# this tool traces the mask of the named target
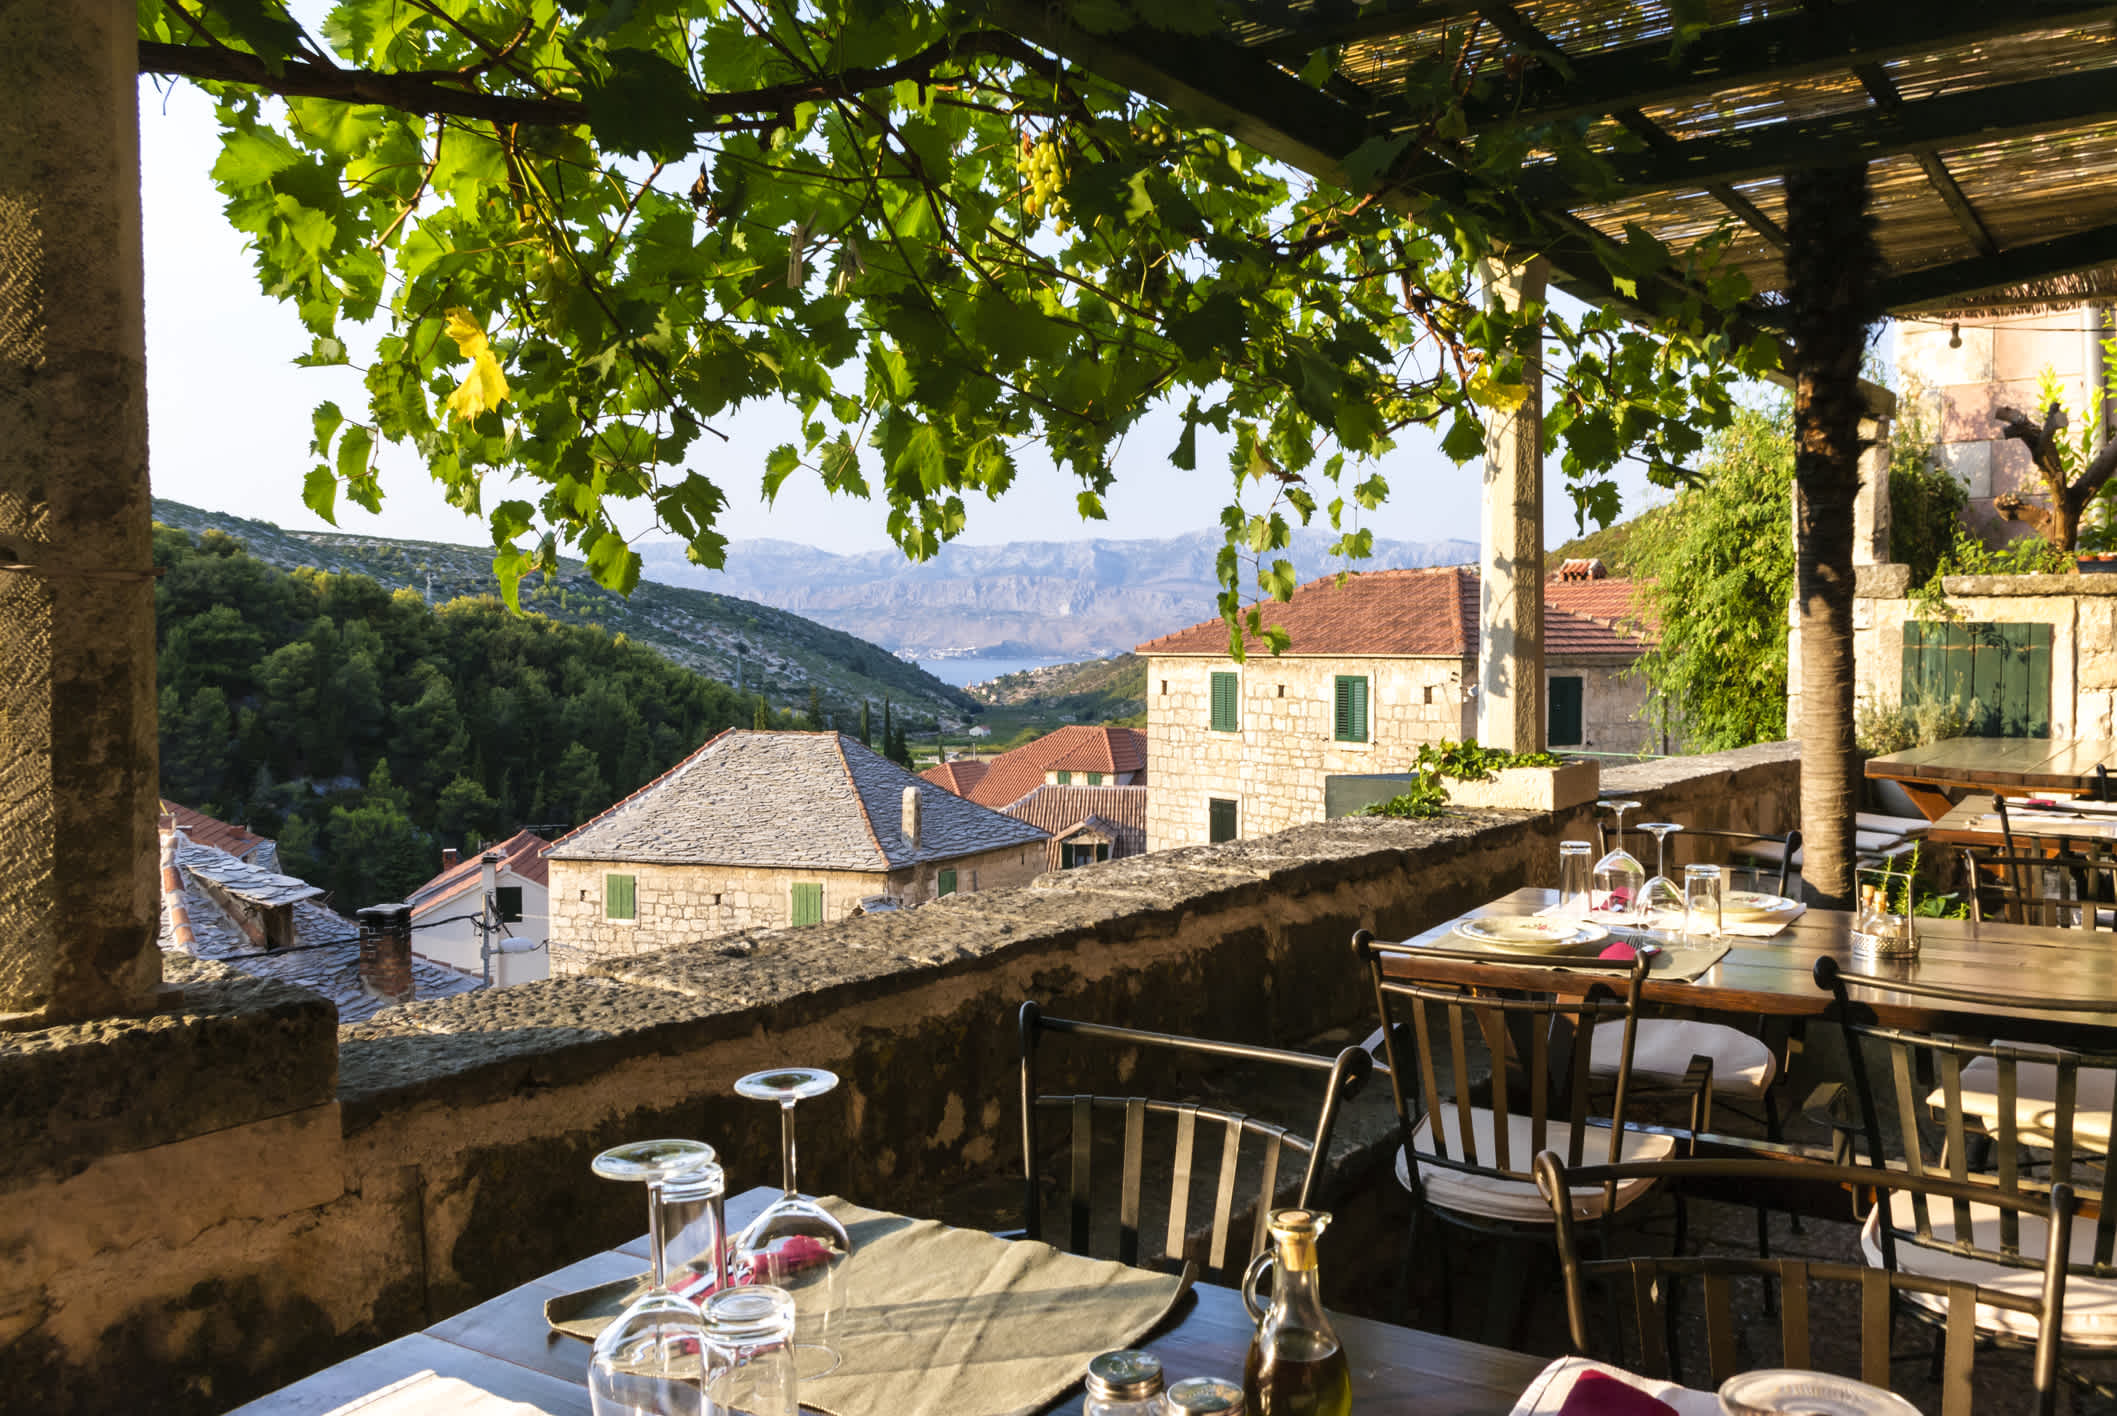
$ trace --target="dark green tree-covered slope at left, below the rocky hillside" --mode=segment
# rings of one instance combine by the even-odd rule
[[[760,713],[811,726],[493,597],[434,607],[167,525],[155,563],[163,796],[275,836],[341,908],[402,897],[442,845],[584,821]]]

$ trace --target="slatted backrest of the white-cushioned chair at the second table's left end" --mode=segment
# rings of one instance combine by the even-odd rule
[[[1382,944],[1361,929],[1353,948],[1374,984],[1374,1007],[1382,1022],[1389,1092],[1406,1147],[1412,1194],[1425,1202],[1421,1166],[1440,1166],[1486,1179],[1535,1183],[1531,1166],[1554,1134],[1562,1134],[1567,1160],[1581,1164],[1590,1143],[1603,1160],[1617,1160],[1624,1147],[1624,1115],[1632,1084],[1632,1039],[1639,1024],[1639,993],[1649,959],[1605,963],[1569,959],[1569,969],[1600,974],[1581,988],[1581,974],[1539,969],[1531,978],[1499,984],[1463,984],[1431,974],[1435,963],[1492,965],[1492,955]],[[1509,959],[1509,965],[1516,961]],[[1450,969],[1452,972],[1452,969]],[[1609,1126],[1590,1126],[1592,1054],[1598,1027],[1622,1029],[1615,1092]],[[1471,1088],[1471,1039],[1492,1060],[1490,1094]],[[1507,1088],[1507,1058],[1522,1063],[1528,1088],[1528,1143],[1509,1132],[1514,1099]],[[1478,1111],[1490,1113],[1488,1143],[1478,1137]],[[1412,1145],[1421,1120],[1427,1124],[1416,1164]],[[1564,1126],[1564,1132],[1554,1132]],[[1611,1204],[1615,1209],[1615,1204]]]

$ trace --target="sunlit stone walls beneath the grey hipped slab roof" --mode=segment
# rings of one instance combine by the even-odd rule
[[[824,887],[826,925],[849,919],[868,895],[923,904],[940,895],[942,870],[955,870],[959,891],[1027,885],[1044,870],[1044,842],[887,874],[553,859],[553,974],[580,974],[597,959],[694,944],[737,929],[781,929],[794,919],[794,885]],[[603,878],[610,874],[633,876],[633,919],[605,916]]]

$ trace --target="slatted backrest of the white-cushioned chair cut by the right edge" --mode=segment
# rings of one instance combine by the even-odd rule
[[[1914,1179],[1975,1181],[1979,1196],[2043,1202],[2070,1185],[2083,1156],[2106,1158],[2117,1134],[2117,1054],[2075,1052],[2045,1043],[1977,1041],[1880,1027],[1848,988],[1886,988],[1937,1001],[1990,1007],[2032,1007],[1990,993],[1969,993],[1916,980],[1854,974],[1835,959],[1816,961],[1816,984],[1831,993],[1831,1014],[1844,1033],[1867,1164]],[[2062,1012],[2117,1012],[2117,1003],[2064,1003]],[[2060,1007],[2053,1007],[2060,1012]],[[1994,1020],[1994,1027],[2005,1027]],[[1874,1071],[1886,1073],[1876,1096]],[[1895,1139],[1895,1143],[1890,1143]],[[2100,1213],[2092,1264],[2075,1272],[2117,1276],[2117,1166],[2102,1164]],[[2037,1170],[2045,1170],[2039,1177]],[[1895,1268],[1895,1247],[1912,1242],[1992,1264],[2034,1264],[2022,1251],[2013,1215],[1979,1228],[1967,1202],[1935,1226],[1924,1194],[1912,1192],[1912,1223],[1880,1223],[1882,1251]],[[1990,1236],[1990,1242],[1986,1242]]]

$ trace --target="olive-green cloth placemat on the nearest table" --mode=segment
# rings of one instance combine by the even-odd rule
[[[1097,1353],[1154,1331],[1192,1274],[1084,1259],[1033,1240],[951,1230],[838,1198],[824,1206],[853,1238],[834,1274],[845,1306],[826,1340],[838,1369],[804,1378],[800,1403],[830,1416],[1012,1416],[1073,1386]],[[593,1340],[646,1289],[646,1274],[544,1304],[563,1333]],[[802,1319],[828,1306],[796,1291]]]

